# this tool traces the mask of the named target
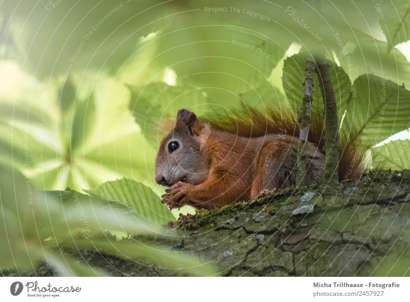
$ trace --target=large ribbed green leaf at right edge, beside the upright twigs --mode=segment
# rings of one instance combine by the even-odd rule
[[[373,74],[354,82],[340,131],[375,145],[410,127],[410,91]]]

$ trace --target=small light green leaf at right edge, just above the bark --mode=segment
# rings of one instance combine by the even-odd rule
[[[373,165],[382,169],[410,169],[410,140],[395,140],[375,147]]]

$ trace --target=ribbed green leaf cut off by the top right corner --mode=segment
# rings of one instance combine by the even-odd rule
[[[387,51],[410,39],[410,2],[408,0],[383,1],[378,8],[380,26],[386,36]]]

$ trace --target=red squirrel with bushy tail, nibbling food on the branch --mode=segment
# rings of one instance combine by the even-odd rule
[[[180,109],[156,157],[155,181],[169,187],[161,202],[170,210],[185,204],[210,210],[295,184],[298,131],[291,112],[246,108],[233,117],[199,119]],[[306,173],[312,182],[325,160],[323,121],[312,120],[308,140]],[[348,175],[355,177],[363,171],[365,150],[348,139],[341,146],[339,179],[346,176],[347,163]]]

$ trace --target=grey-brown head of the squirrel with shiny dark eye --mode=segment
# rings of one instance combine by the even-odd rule
[[[174,128],[162,140],[155,161],[155,181],[172,186],[178,181],[199,184],[208,178],[201,155],[201,125],[187,109],[178,111]]]

